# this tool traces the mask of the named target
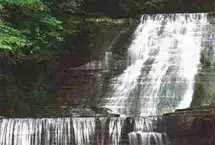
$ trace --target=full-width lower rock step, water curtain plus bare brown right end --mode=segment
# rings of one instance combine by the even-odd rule
[[[5,118],[0,145],[214,145],[215,107],[162,117]]]

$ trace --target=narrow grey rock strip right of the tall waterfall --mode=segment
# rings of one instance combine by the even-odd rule
[[[193,101],[191,106],[203,106],[214,102],[215,92],[215,49],[214,49],[214,36],[215,36],[215,25],[214,25],[214,13],[208,15],[209,25],[205,27],[202,39],[201,49],[201,65],[197,75],[195,76],[195,86]]]

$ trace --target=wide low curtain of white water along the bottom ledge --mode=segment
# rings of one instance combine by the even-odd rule
[[[130,132],[162,130],[157,117],[11,118],[0,122],[0,145],[128,145]],[[161,140],[152,136],[155,143]],[[151,135],[145,137],[151,140]]]

